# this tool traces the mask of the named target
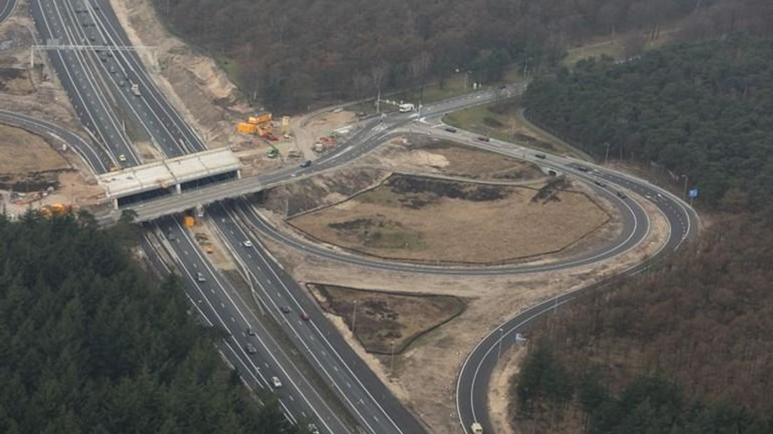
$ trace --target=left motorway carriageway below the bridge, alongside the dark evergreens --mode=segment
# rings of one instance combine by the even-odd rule
[[[190,232],[177,219],[160,219],[148,224],[148,229],[143,243],[148,247],[146,253],[155,256],[160,248],[172,253],[192,304],[208,324],[226,332],[221,343],[223,355],[248,387],[278,395],[292,422],[305,419],[323,432],[352,432],[308,381],[308,373],[292,360],[290,354],[294,349],[272,336],[264,324],[267,319],[258,317],[248,307],[230,281],[209,263]],[[275,310],[264,308],[264,312],[271,317],[269,320],[281,320]],[[248,344],[254,347],[254,352],[247,349]],[[280,379],[281,387],[272,385],[272,377]]]

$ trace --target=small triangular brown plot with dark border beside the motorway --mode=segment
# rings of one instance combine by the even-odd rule
[[[322,308],[342,317],[369,353],[400,354],[421,334],[455,317],[465,308],[458,297],[397,294],[333,285],[306,285]],[[356,318],[354,309],[357,307]]]

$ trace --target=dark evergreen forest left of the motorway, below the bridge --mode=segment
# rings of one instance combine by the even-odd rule
[[[295,432],[186,310],[83,215],[0,217],[0,432]]]

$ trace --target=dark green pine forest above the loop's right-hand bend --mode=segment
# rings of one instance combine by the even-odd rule
[[[737,211],[773,198],[773,39],[730,35],[624,64],[585,60],[536,80],[524,101],[533,120],[598,160],[662,164],[688,176],[702,201]]]

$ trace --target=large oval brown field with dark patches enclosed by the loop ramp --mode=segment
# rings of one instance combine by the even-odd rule
[[[314,239],[386,259],[503,263],[558,253],[610,219],[561,178],[515,186],[393,175],[288,222]]]

